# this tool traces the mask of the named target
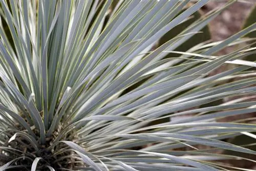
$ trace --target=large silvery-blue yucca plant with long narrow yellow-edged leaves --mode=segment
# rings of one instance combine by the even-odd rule
[[[154,48],[207,2],[1,0],[0,170],[245,170],[222,160],[255,162],[217,153],[256,154],[223,141],[255,138],[255,124],[218,122],[256,112],[255,101],[199,106],[255,94],[255,63],[241,60],[256,52],[253,39],[240,37],[256,24],[175,51],[231,1]],[[180,56],[165,58],[172,53]],[[208,76],[224,63],[239,66]],[[240,79],[222,84],[231,78]],[[170,120],[154,122],[162,118]]]

